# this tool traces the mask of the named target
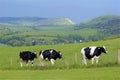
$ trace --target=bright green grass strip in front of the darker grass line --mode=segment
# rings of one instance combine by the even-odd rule
[[[0,71],[0,80],[120,80],[120,67]]]

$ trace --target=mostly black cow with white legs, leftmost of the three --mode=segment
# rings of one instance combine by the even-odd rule
[[[31,64],[33,66],[34,58],[37,58],[36,52],[30,52],[30,51],[20,52],[19,56],[20,56],[21,67],[23,66],[23,64],[22,64],[23,61],[25,61],[27,65],[29,62],[31,62]]]

